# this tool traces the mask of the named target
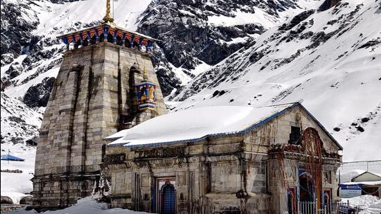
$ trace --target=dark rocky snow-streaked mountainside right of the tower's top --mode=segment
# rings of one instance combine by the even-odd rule
[[[200,66],[202,69],[205,63],[220,62],[268,28],[317,2],[152,1],[141,15],[138,30],[163,41],[159,46],[166,57],[159,59],[157,73],[159,79],[166,77],[160,83],[164,95],[168,95],[197,75]],[[179,80],[174,82],[174,77]]]

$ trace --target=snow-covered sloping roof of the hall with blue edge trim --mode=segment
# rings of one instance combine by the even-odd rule
[[[296,105],[301,104],[293,102],[266,107],[211,106],[186,109],[152,118],[105,139],[115,140],[109,146],[123,145],[128,148],[180,141],[195,142],[208,136],[244,134]]]

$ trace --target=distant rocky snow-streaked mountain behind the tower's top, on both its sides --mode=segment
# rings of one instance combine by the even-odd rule
[[[114,17],[119,26],[138,30],[141,33],[159,37],[165,41],[163,44],[160,44],[164,52],[161,51],[161,48],[156,48],[157,50],[155,50],[157,54],[154,56],[154,64],[157,68],[161,85],[163,85],[163,91],[165,94],[169,94],[172,89],[179,87],[181,82],[183,84],[188,82],[195,74],[204,70],[205,66],[201,66],[197,69],[198,71],[190,71],[190,69],[194,69],[194,66],[185,66],[184,60],[181,61],[180,58],[182,58],[183,54],[190,54],[186,60],[188,64],[194,64],[195,66],[197,64],[204,65],[202,61],[197,60],[197,57],[193,59],[193,55],[196,55],[196,53],[193,53],[195,51],[191,51],[191,49],[197,49],[198,52],[200,50],[209,50],[212,43],[213,50],[218,51],[222,48],[224,53],[220,53],[218,59],[206,60],[209,64],[215,64],[251,40],[254,37],[253,33],[256,35],[263,33],[268,26],[273,26],[278,21],[283,21],[286,17],[305,10],[305,8],[309,8],[317,2],[314,0],[290,0],[263,4],[248,1],[247,3],[237,4],[225,1],[208,3],[207,5],[209,6],[206,7],[208,8],[206,12],[201,10],[204,7],[201,1],[197,5],[194,5],[187,1],[177,2],[167,0],[151,2],[151,0],[144,0],[138,2],[123,0],[116,1],[113,8]],[[18,52],[12,51],[11,48],[1,49],[1,80],[6,83],[6,86],[10,86],[8,91],[13,91],[14,89],[19,91],[14,96],[13,94],[8,95],[13,97],[23,96],[22,93],[26,93],[26,90],[32,85],[42,82],[46,77],[55,77],[57,72],[55,69],[59,67],[62,60],[62,52],[64,51],[63,44],[55,37],[69,31],[94,26],[103,17],[105,4],[103,0],[58,2],[52,3],[48,0],[2,0],[1,11],[3,15],[6,15],[3,17],[6,18],[1,19],[1,28],[6,30],[6,32],[16,33],[15,36],[8,36],[6,39],[2,38],[2,41],[7,41],[5,44],[25,41],[22,44],[17,43],[18,46],[15,49]],[[255,4],[256,8],[248,9],[251,6],[248,4]],[[148,7],[148,5],[150,6]],[[172,6],[174,8],[171,8]],[[219,9],[221,6],[224,6],[224,10]],[[167,13],[167,10],[175,12]],[[195,12],[194,10],[197,10],[197,16],[186,17]],[[232,12],[229,12],[230,10]],[[158,14],[155,11],[160,11],[161,13]],[[257,15],[254,15],[254,13],[257,13]],[[215,27],[215,17],[221,15],[227,15],[230,21],[237,21],[233,21],[233,24],[229,24],[227,28],[218,26],[218,24]],[[251,21],[246,20],[245,23],[242,23],[242,15],[243,17],[251,15],[251,19],[249,19]],[[14,16],[22,20],[20,21],[21,24],[24,22],[28,23],[28,28],[24,26],[19,26],[19,28],[11,27],[17,26],[17,23],[12,22],[14,20],[12,17]],[[28,19],[24,17],[28,17]],[[166,21],[168,17],[172,17],[174,21]],[[163,22],[164,20],[165,22]],[[197,40],[197,38],[193,38],[195,37],[195,30],[190,27],[190,24],[184,24],[184,21],[187,23],[191,22],[193,28],[202,30],[202,35],[198,39],[203,42],[190,42],[190,40]],[[222,28],[223,30],[221,30]],[[24,31],[28,33],[27,36],[22,35]],[[170,33],[168,34],[167,31]],[[188,32],[192,37],[189,41],[185,41],[188,42],[188,49],[185,51],[183,40],[189,36],[184,37],[184,32]],[[224,42],[220,38],[228,42]],[[218,44],[214,44],[214,42]],[[175,45],[180,43],[182,46]],[[202,55],[205,58],[211,57],[214,54],[203,53]],[[200,58],[201,60],[204,59]],[[12,62],[12,60],[15,61]],[[177,60],[181,62],[177,63]],[[43,76],[44,78],[42,78]],[[36,80],[30,82],[32,79]],[[30,84],[19,87],[26,82],[30,82]]]

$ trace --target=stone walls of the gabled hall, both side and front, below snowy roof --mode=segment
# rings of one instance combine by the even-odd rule
[[[274,150],[273,145],[278,142],[290,145],[291,127],[299,121],[301,130],[313,125],[319,136],[323,136],[324,148],[337,154],[337,145],[331,145],[332,140],[308,117],[303,114],[303,109],[294,107],[247,134],[218,135],[199,142],[157,147],[107,147],[110,157],[125,157],[123,163],[103,164],[112,182],[116,182],[113,184],[115,189],[121,185],[117,173],[130,173],[132,180],[133,177],[139,177],[139,180],[127,182],[132,182],[131,186],[140,186],[139,198],[146,199],[136,204],[138,196],[134,194],[138,192],[131,189],[130,198],[112,193],[112,206],[129,202],[128,208],[153,211],[155,180],[173,177],[177,182],[177,193],[182,193],[182,197],[177,195],[178,213],[283,213],[287,211],[287,190],[295,188],[295,193],[299,194],[299,169],[308,169],[311,159],[308,155],[305,157],[300,145],[294,145],[300,149],[296,151]],[[287,130],[287,135],[282,130]],[[319,177],[321,188],[330,188],[334,201],[337,199],[335,172],[339,161],[339,156],[323,157]],[[122,166],[126,168],[118,168]],[[116,169],[120,171],[116,172]]]

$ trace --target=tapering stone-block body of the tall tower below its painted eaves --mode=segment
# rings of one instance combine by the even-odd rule
[[[134,85],[144,67],[157,86],[157,105],[139,112]],[[65,52],[40,129],[33,206],[62,208],[90,195],[103,138],[165,113],[150,54],[107,42]]]

